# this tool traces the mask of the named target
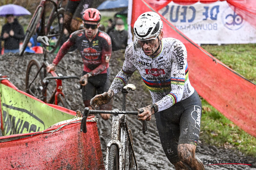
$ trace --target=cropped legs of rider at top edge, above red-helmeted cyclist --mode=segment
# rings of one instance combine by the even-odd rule
[[[81,15],[91,7],[92,3],[92,0],[68,0],[63,22],[70,34],[80,29],[83,21]]]

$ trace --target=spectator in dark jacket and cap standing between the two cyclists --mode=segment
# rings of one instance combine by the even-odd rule
[[[128,32],[125,30],[124,21],[122,19],[116,20],[115,28],[110,31],[109,36],[111,37],[113,51],[126,48]]]

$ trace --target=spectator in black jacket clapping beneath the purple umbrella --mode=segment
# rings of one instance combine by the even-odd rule
[[[3,25],[1,39],[4,41],[4,53],[19,52],[19,42],[24,39],[24,29],[13,15],[6,15],[7,23]]]

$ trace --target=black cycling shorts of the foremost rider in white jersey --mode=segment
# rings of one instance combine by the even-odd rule
[[[202,113],[201,100],[195,92],[185,100],[155,114],[163,150],[171,163],[179,162],[178,145],[197,145]]]

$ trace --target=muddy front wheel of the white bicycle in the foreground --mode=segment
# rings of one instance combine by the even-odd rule
[[[108,170],[118,170],[119,169],[119,156],[117,152],[117,147],[115,145],[110,146],[109,150],[109,161]]]

